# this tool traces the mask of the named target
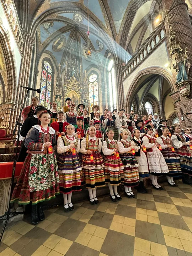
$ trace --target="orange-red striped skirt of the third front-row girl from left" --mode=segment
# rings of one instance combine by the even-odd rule
[[[82,172],[86,188],[96,188],[105,186],[105,173],[103,158],[98,151],[93,151],[93,161],[91,155],[82,155]]]

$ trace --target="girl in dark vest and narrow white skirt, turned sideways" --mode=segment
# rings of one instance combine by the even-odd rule
[[[135,152],[135,158],[139,164],[138,170],[139,170],[139,186],[136,188],[138,192],[140,193],[146,193],[148,192],[146,188],[144,187],[143,179],[146,177],[149,177],[149,169],[148,169],[148,163],[146,155],[143,151],[143,148],[145,147],[143,145],[143,141],[139,138],[140,137],[140,131],[138,129],[133,130],[133,142],[135,143],[135,146],[138,147],[138,151]]]

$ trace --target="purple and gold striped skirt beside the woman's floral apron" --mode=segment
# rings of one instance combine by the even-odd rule
[[[73,191],[81,191],[82,169],[78,154],[65,152],[59,156],[57,163],[60,192],[69,194]]]

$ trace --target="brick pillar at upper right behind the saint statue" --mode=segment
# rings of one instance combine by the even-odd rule
[[[178,39],[180,40],[181,48],[183,48],[184,53],[185,48],[187,47],[189,61],[190,63],[192,63],[192,26],[190,22],[190,17],[187,12],[187,4],[185,3],[185,0],[162,0],[162,2],[164,4],[164,10],[165,12],[167,11],[167,15],[169,17],[168,21],[168,17],[166,15],[164,22],[167,39],[169,41],[169,22],[172,25],[172,28],[175,31]],[[172,62],[174,63],[174,59],[172,59]],[[188,79],[192,81],[192,68],[190,69]],[[175,89],[175,91],[177,92],[178,98],[180,99],[180,101],[177,101],[176,105],[178,109],[178,116],[180,118],[181,127],[192,127],[192,114],[186,115],[186,112],[192,110],[192,98],[184,98],[180,95],[177,89]],[[174,98],[174,95],[172,96],[172,98]],[[181,120],[181,113],[179,113],[179,109],[181,109],[183,112],[185,122]]]

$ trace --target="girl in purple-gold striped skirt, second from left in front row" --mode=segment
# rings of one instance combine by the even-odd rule
[[[74,126],[68,124],[66,135],[58,137],[57,152],[60,192],[63,194],[64,210],[74,210],[72,192],[81,191],[82,169],[79,161],[80,140],[74,137]]]

